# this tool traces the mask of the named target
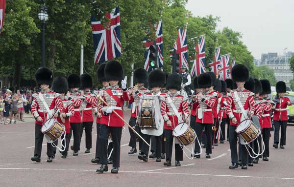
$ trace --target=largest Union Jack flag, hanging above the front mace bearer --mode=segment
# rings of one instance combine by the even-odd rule
[[[101,24],[101,20],[91,16],[95,64],[120,57],[122,54],[120,8],[114,8],[113,12],[105,14],[105,17],[109,19],[106,28]]]

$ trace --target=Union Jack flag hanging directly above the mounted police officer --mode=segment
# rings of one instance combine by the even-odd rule
[[[176,50],[176,53],[179,54],[179,68],[181,65],[184,64],[189,70],[188,65],[188,47],[187,47],[187,30],[186,29],[179,29],[178,30],[178,37],[176,42],[173,44],[173,48]]]

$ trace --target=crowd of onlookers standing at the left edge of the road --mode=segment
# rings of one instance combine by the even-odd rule
[[[23,87],[11,91],[2,87],[0,90],[0,124],[16,124],[16,121],[25,121],[24,113],[31,112],[32,94],[36,88]]]

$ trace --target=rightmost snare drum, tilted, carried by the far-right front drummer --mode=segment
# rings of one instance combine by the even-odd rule
[[[247,143],[254,141],[260,134],[260,131],[251,120],[244,120],[235,130]]]

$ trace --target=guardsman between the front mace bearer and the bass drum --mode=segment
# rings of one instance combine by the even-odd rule
[[[129,104],[132,104],[131,118],[129,120],[129,125],[131,125],[132,127],[136,125],[136,120],[137,120],[138,112],[139,112],[139,103],[140,103],[140,98],[135,92],[138,91],[141,94],[145,94],[149,92],[149,90],[144,87],[144,84],[147,83],[147,81],[148,81],[148,73],[145,69],[138,68],[134,71],[134,83],[136,83],[136,85],[128,89],[128,91],[130,92]],[[128,154],[134,154],[137,152],[137,145],[136,145],[137,136],[135,135],[133,130],[130,128],[129,128],[129,133],[130,133],[129,146],[132,147],[132,149],[128,152]],[[139,133],[142,134],[141,132]],[[143,144],[143,141],[139,139],[139,150],[141,150],[142,144]]]

